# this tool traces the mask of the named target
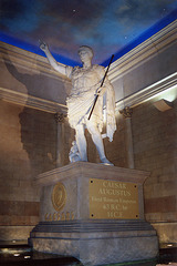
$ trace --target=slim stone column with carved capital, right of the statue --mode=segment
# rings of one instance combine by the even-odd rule
[[[131,122],[133,110],[127,106],[121,110],[119,113],[124,115],[126,121],[126,147],[127,147],[128,167],[134,168],[134,150],[133,150],[132,122]]]

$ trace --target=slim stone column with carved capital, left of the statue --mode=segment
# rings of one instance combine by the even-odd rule
[[[56,167],[63,166],[64,160],[64,117],[63,113],[55,113],[58,123],[58,141],[56,141]]]

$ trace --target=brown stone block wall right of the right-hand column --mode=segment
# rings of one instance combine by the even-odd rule
[[[177,100],[173,109],[158,111],[148,101],[133,109],[135,167],[150,171],[144,185],[145,216],[160,242],[177,242]]]

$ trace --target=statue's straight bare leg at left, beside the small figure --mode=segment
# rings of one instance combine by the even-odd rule
[[[76,145],[80,152],[81,161],[87,161],[87,154],[86,154],[86,139],[84,134],[84,125],[77,124],[75,126],[75,140]]]

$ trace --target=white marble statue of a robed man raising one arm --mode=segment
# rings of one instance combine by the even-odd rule
[[[104,68],[92,64],[93,50],[86,45],[79,49],[79,55],[83,63],[82,68],[58,64],[46,43],[41,42],[40,48],[44,51],[53,69],[66,75],[72,81],[72,90],[66,100],[66,104],[69,123],[71,127],[75,130],[76,143],[74,143],[74,145],[77,147],[77,154],[76,157],[73,158],[73,153],[71,151],[69,155],[70,161],[87,161],[86,140],[84,134],[85,129],[87,129],[97,149],[101,162],[103,164],[113,165],[105,156],[101,135],[103,129],[103,102],[106,105],[106,136],[108,136],[110,141],[113,140],[113,134],[116,130],[114,89],[107,78],[104,81],[102,90],[100,89],[105,74]],[[88,120],[91,109],[97,94],[97,102]]]

